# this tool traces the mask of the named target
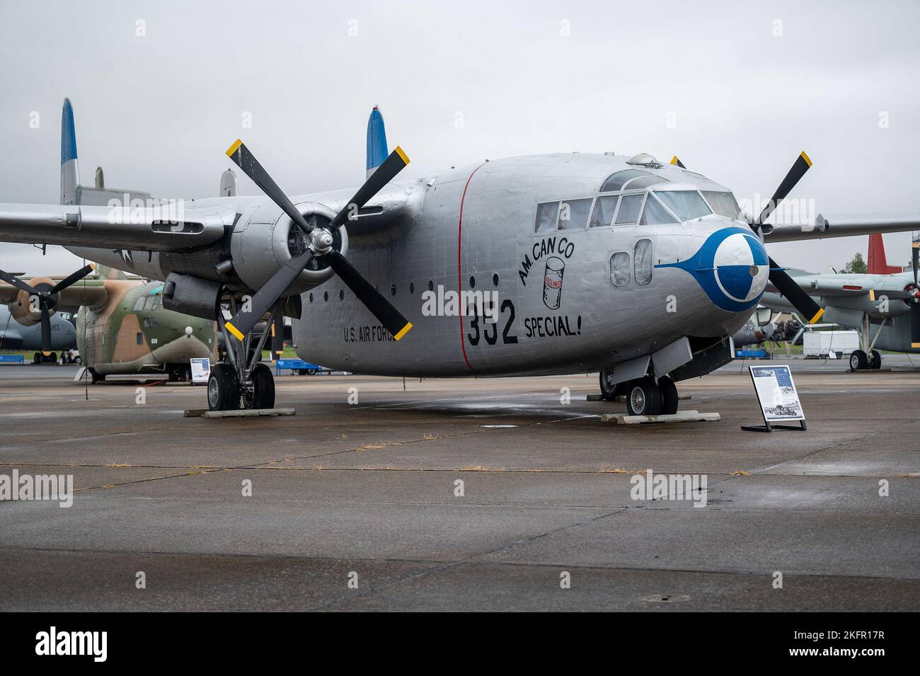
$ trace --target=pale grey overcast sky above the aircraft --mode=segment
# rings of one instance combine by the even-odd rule
[[[237,136],[288,193],[356,186],[377,103],[406,178],[487,157],[676,153],[752,200],[804,149],[814,166],[793,195],[818,212],[917,212],[918,19],[914,0],[0,0],[0,201],[58,201],[70,97],[82,182],[101,165],[109,186],[158,197],[215,196]],[[240,176],[240,192],[259,189]],[[889,262],[909,243],[885,235]],[[7,270],[80,265],[0,247]],[[866,249],[770,246],[816,271]]]

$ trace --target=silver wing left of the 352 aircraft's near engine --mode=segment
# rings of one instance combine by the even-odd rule
[[[233,209],[195,207],[183,202],[127,209],[0,204],[0,241],[181,251],[213,244],[235,219]]]

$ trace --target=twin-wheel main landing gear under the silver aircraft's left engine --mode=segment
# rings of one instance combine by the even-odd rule
[[[231,315],[236,301],[229,302]],[[231,336],[224,327],[223,304],[217,313],[217,326],[224,334],[226,361],[215,364],[208,378],[208,408],[212,411],[235,411],[240,408],[273,408],[275,380],[268,365],[260,362],[262,348],[271,333],[278,306],[271,311],[261,332],[253,329],[242,340]]]

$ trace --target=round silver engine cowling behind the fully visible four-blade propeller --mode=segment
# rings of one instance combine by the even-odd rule
[[[322,227],[335,217],[335,212],[323,204],[301,202],[295,205],[307,223]],[[344,227],[333,234],[333,248],[343,256],[348,254],[348,233]],[[293,220],[274,204],[267,202],[246,217],[240,218],[230,240],[233,268],[253,291],[261,289],[271,276],[291,258],[305,251],[306,235]],[[303,293],[327,281],[333,275],[328,263],[311,260],[291,286],[294,293]]]

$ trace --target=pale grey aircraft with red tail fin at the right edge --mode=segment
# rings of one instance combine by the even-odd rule
[[[881,242],[869,246],[870,260],[880,257],[879,265],[890,268]],[[850,353],[851,371],[880,368],[879,349],[920,353],[920,242],[914,241],[911,250],[912,269],[907,272],[815,275],[797,271],[792,277],[802,291],[821,300],[826,321],[859,332],[861,348]],[[793,309],[775,289],[768,288],[761,303],[774,310]]]

